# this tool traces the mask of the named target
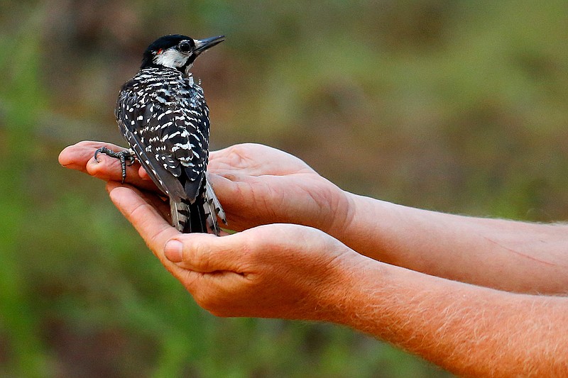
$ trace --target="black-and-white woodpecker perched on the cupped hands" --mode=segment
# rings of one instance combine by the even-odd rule
[[[194,39],[170,34],[155,40],[143,53],[138,72],[119,92],[114,111],[129,149],[101,153],[126,165],[138,160],[148,176],[169,197],[172,226],[182,233],[219,236],[217,217],[226,216],[207,180],[209,108],[201,82],[190,72],[202,52],[224,41],[224,35]]]

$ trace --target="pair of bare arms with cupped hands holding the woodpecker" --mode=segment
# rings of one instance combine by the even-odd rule
[[[92,158],[102,145],[70,146],[60,162],[107,181],[160,262],[218,316],[340,323],[466,376],[568,373],[567,226],[356,196],[292,155],[247,144],[209,162],[241,232],[180,234],[143,169],[129,167],[132,186],[121,185],[116,160]]]

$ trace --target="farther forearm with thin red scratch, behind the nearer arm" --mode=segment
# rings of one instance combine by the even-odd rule
[[[336,238],[375,260],[527,293],[568,292],[568,226],[456,216],[349,194]]]

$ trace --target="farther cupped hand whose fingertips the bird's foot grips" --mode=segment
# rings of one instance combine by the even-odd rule
[[[116,145],[84,141],[60,153],[61,165],[105,181],[120,181],[119,160],[99,155],[100,147]],[[126,167],[126,183],[161,194],[136,162]],[[349,196],[324,179],[305,162],[265,145],[241,144],[212,151],[208,178],[219,197],[231,230],[245,230],[268,223],[296,223],[341,235],[349,221]]]

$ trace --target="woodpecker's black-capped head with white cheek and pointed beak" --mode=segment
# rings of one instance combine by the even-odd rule
[[[224,40],[224,35],[202,40],[180,34],[164,35],[148,46],[140,68],[169,67],[187,74],[198,55]]]

